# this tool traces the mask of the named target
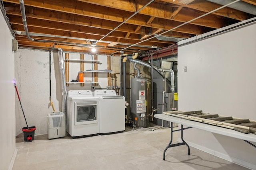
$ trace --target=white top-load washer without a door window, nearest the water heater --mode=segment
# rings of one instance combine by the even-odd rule
[[[95,90],[100,97],[100,134],[119,133],[125,130],[125,98],[114,90]]]

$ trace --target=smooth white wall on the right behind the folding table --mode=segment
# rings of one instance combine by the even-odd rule
[[[256,22],[178,47],[179,109],[256,120],[255,47]],[[256,168],[256,148],[242,140],[194,128],[184,133],[193,147]]]

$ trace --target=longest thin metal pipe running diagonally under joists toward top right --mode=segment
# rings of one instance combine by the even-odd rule
[[[226,5],[224,5],[224,6],[221,6],[220,8],[217,8],[217,9],[215,9],[215,10],[212,10],[212,11],[210,11],[210,12],[207,12],[206,14],[203,14],[203,15],[201,15],[201,16],[199,16],[199,17],[196,17],[196,18],[194,18],[194,19],[192,19],[192,20],[190,20],[190,21],[184,22],[184,23],[182,23],[182,24],[180,24],[180,25],[178,25],[178,26],[176,26],[176,27],[174,27],[174,28],[172,28],[172,29],[169,29],[169,30],[167,30],[167,31],[164,31],[164,32],[162,32],[162,33],[160,33],[160,34],[158,34],[158,35],[154,35],[153,37],[150,37],[150,38],[148,38],[148,39],[145,39],[145,40],[143,40],[143,41],[140,41],[140,42],[135,43],[135,44],[133,44],[133,45],[130,45],[130,46],[128,46],[128,47],[125,47],[125,48],[122,49],[122,50],[128,49],[128,48],[130,48],[130,47],[132,47],[132,46],[134,46],[134,45],[138,45],[138,44],[140,44],[140,43],[143,43],[143,42],[148,41],[148,40],[150,40],[150,39],[156,38],[156,37],[158,37],[158,36],[160,36],[160,35],[163,35],[163,34],[165,34],[165,33],[168,33],[169,31],[172,31],[172,30],[174,30],[174,29],[176,29],[176,28],[179,28],[179,27],[181,27],[181,26],[183,26],[183,25],[186,25],[187,23],[190,23],[190,22],[192,22],[192,21],[194,21],[194,20],[198,20],[199,18],[202,18],[202,17],[204,17],[204,16],[207,16],[208,14],[211,14],[211,13],[213,13],[213,12],[215,12],[215,11],[218,11],[218,10],[220,10],[220,9],[222,9],[222,8],[225,8],[226,6],[229,6],[229,5],[231,5],[231,4],[234,4],[234,3],[238,2],[238,1],[240,1],[240,0],[236,0],[236,1],[233,1],[233,2],[231,2],[231,3],[229,3],[229,4],[226,4]]]

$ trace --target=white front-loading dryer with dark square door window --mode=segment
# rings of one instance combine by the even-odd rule
[[[100,134],[99,103],[91,90],[68,91],[66,130],[72,138]]]

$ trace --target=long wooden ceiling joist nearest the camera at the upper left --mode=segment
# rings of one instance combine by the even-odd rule
[[[6,0],[8,2],[14,2],[18,3],[18,0]],[[80,16],[90,16],[94,18],[100,18],[104,20],[110,20],[110,21],[117,21],[122,22],[126,18],[130,17],[133,12],[126,12],[124,13],[122,10],[115,10],[113,11],[113,8],[107,8],[103,6],[96,6],[93,4],[87,4],[83,2],[79,2],[76,0],[55,0],[55,1],[48,1],[48,0],[26,0],[24,1],[26,6],[34,6],[37,8],[44,8],[44,9],[50,9],[55,10],[59,12],[65,12],[70,14],[77,14]],[[61,6],[58,6],[56,4],[61,4]],[[160,11],[160,13],[163,11]],[[153,13],[154,15],[154,13]],[[134,24],[134,25],[142,25],[142,26],[148,26],[146,25],[146,21],[148,21],[150,16],[145,16],[142,14],[137,14],[130,20],[128,20],[126,23]],[[155,22],[154,24],[150,25],[154,28],[162,28],[162,29],[172,29],[174,28],[173,25],[180,25],[182,24],[179,21],[171,21],[166,20],[162,18],[158,18],[158,21],[161,23],[165,23],[164,25],[159,24],[158,22]],[[212,23],[209,21],[209,23]],[[186,24],[182,27],[179,27],[176,29],[176,31],[182,32],[182,33],[190,33],[194,35],[202,34],[205,32],[203,30],[204,27],[193,25],[193,24]]]

